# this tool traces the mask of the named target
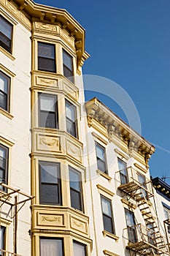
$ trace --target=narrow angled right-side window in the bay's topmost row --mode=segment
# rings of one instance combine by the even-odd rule
[[[63,75],[74,83],[73,59],[65,50],[63,50]]]

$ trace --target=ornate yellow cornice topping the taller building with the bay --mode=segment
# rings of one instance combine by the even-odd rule
[[[4,3],[9,1],[10,6],[13,4],[15,8],[17,4],[18,10],[20,10],[22,15],[25,15],[31,23],[39,21],[53,26],[58,25],[61,29],[67,31],[69,36],[74,38],[74,47],[76,49],[77,64],[79,67],[82,67],[84,61],[89,58],[90,55],[85,51],[85,29],[82,28],[80,23],[78,23],[66,10],[36,4],[31,0],[2,1]]]

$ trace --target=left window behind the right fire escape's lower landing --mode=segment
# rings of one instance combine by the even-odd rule
[[[126,225],[128,227],[128,241],[131,243],[136,243],[137,241],[136,223],[135,223],[133,211],[129,211],[128,209],[125,209],[125,220],[126,220]]]

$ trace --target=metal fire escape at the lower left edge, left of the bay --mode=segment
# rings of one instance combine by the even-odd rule
[[[9,226],[13,225],[13,232],[8,238],[9,244],[12,245],[12,252],[8,252],[6,248],[0,249],[1,256],[21,256],[18,255],[18,214],[26,202],[31,199],[30,195],[21,192],[20,189],[0,183],[0,227],[3,224],[3,219],[9,222]],[[26,207],[29,208],[29,206]]]

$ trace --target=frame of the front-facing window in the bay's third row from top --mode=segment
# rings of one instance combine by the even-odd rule
[[[57,183],[50,183],[50,182],[42,182],[41,176],[41,163],[45,165],[55,165],[58,167],[58,184]],[[43,184],[52,184],[58,186],[58,203],[49,203],[42,201],[42,183]],[[60,162],[51,162],[51,161],[39,161],[39,204],[40,205],[48,205],[48,206],[62,206],[62,187],[61,187],[61,163]]]

